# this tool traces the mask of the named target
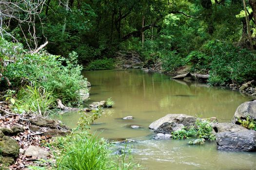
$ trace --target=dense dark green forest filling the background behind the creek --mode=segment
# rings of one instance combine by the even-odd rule
[[[21,0],[31,10],[19,17],[1,12],[0,31],[26,49],[47,40],[51,54],[68,58],[75,51],[87,69],[114,68],[122,51],[138,54],[144,67],[161,63],[175,73],[190,65],[209,73],[212,85],[239,84],[256,73],[254,1],[244,0],[244,8],[242,0],[47,0],[33,13]],[[24,22],[28,14],[34,19]]]

